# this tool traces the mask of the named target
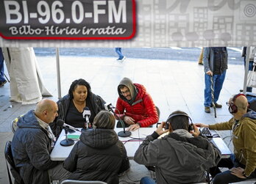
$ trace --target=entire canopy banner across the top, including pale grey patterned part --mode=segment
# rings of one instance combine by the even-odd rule
[[[255,0],[4,0],[0,46],[256,45]]]

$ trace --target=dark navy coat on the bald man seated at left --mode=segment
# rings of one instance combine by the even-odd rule
[[[51,139],[39,124],[34,111],[29,111],[17,122],[12,141],[15,166],[25,184],[49,183],[48,169],[60,162],[51,161]]]

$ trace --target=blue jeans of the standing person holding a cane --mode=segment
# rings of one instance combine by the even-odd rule
[[[214,89],[214,103],[218,101],[219,94],[221,93],[222,85],[226,76],[226,70],[221,75],[213,75],[213,89]],[[211,82],[210,76],[205,73],[205,107],[210,107],[212,104],[212,95],[210,90]]]

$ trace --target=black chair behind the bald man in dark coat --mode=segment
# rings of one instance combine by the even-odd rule
[[[11,146],[12,146],[12,141],[7,141],[7,143],[5,144],[5,149],[4,149],[4,156],[5,156],[6,166],[7,166],[9,183],[13,184],[13,180],[11,177],[11,176],[13,176],[14,184],[24,184],[24,181],[22,180],[18,169],[15,167]]]

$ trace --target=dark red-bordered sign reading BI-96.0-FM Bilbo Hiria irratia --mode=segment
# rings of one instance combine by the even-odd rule
[[[0,7],[4,39],[125,40],[135,35],[135,0],[7,0]]]

